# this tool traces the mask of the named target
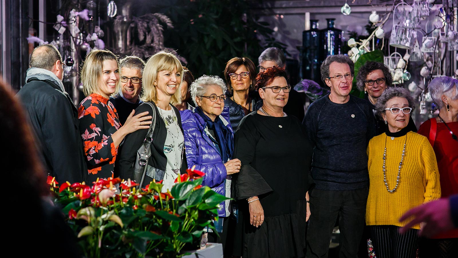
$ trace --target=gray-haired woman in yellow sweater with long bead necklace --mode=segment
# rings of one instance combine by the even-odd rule
[[[366,224],[377,258],[415,258],[420,224],[400,235],[399,218],[441,197],[436,156],[428,139],[406,128],[414,105],[408,90],[389,88],[376,103],[388,130],[367,147],[369,196]]]

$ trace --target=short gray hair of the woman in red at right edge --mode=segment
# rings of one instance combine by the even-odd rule
[[[448,76],[437,77],[430,82],[428,90],[434,103],[441,109],[444,107],[442,95],[447,95],[452,100],[458,99],[458,80]]]

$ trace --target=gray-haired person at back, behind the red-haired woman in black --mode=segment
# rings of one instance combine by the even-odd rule
[[[269,67],[278,66],[286,69],[286,57],[283,50],[276,47],[269,47],[262,51],[258,58],[259,72],[265,71]],[[300,98],[299,92],[291,88],[289,91],[288,103],[283,108],[284,112],[299,118],[304,119],[304,102]]]

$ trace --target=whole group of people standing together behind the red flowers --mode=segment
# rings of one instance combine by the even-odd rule
[[[221,203],[218,232],[207,230],[226,256],[327,257],[338,221],[340,257],[357,257],[365,231],[378,258],[413,258],[421,241],[420,257],[450,257],[453,249],[443,247],[458,245],[456,230],[419,240],[427,224],[400,234],[411,218],[399,220],[458,193],[458,80],[429,84],[439,115],[416,133],[413,99],[391,85],[381,63],[360,68],[360,99],[349,94],[354,63],[328,56],[321,79],[330,93],[304,114],[283,52],[268,48],[258,61],[259,73],[249,58],[234,57],[224,79],[194,79],[170,52],[145,63],[93,50],[81,70],[86,98],[76,108],[61,82],[59,51],[41,45],[17,97],[45,173],[59,182],[133,179],[149,137],[144,185],[164,180],[166,192],[187,168],[204,172],[203,185],[234,200]]]

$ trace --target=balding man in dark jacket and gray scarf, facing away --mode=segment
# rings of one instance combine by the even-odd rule
[[[35,133],[43,166],[60,184],[81,182],[87,173],[78,111],[64,90],[63,75],[59,50],[54,45],[41,45],[32,51],[26,84],[17,93]]]

